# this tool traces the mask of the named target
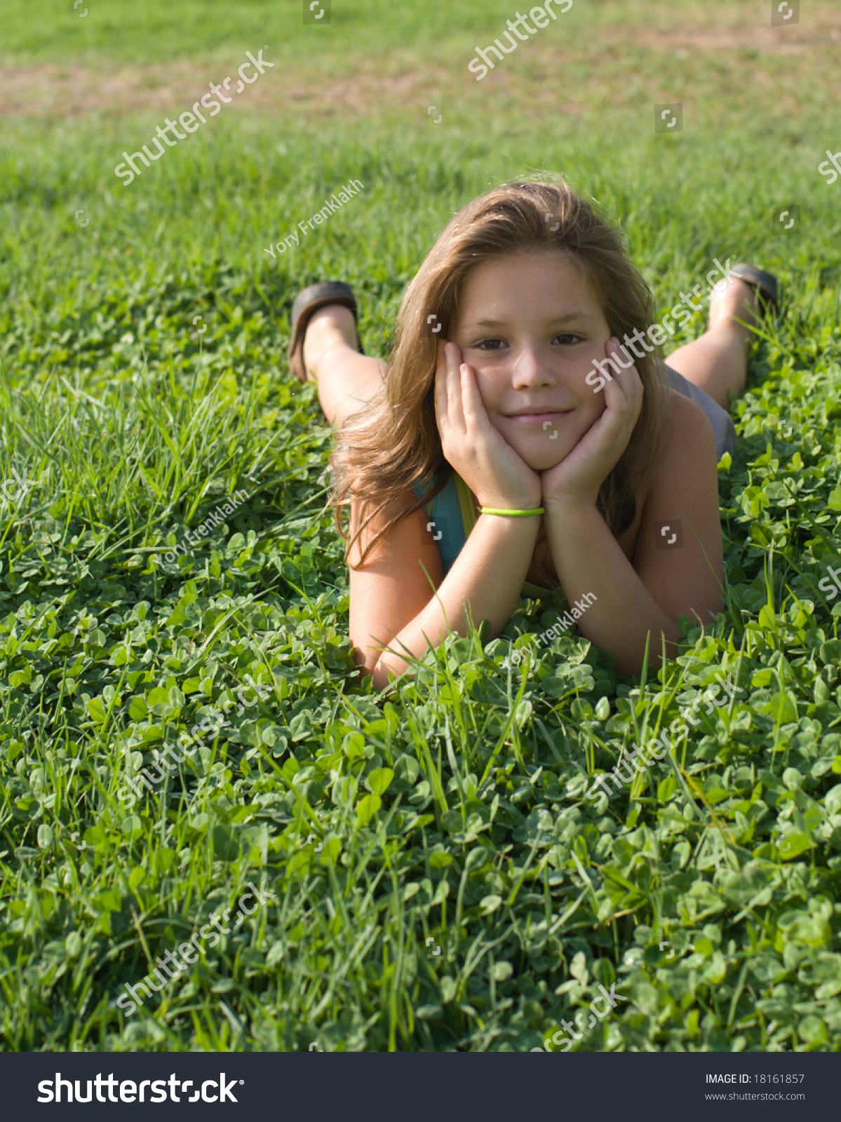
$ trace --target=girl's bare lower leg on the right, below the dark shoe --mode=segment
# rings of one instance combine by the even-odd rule
[[[755,289],[731,277],[724,292],[713,289],[710,325],[704,334],[678,347],[666,359],[687,381],[698,386],[725,410],[730,408],[729,390],[734,390],[737,397],[744,390],[748,353],[753,341],[750,328],[743,328],[735,320],[753,323],[756,303]]]

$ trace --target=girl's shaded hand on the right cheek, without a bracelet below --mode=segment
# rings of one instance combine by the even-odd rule
[[[607,358],[619,351],[628,352],[612,337],[604,344]],[[611,364],[611,369],[619,362]],[[618,369],[604,385],[606,408],[589,426],[575,448],[560,463],[541,471],[543,498],[547,511],[555,506],[595,506],[598,490],[619,458],[628,447],[631,433],[642,407],[642,383],[637,368]]]

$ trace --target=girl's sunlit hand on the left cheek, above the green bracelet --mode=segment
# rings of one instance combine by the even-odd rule
[[[438,344],[436,421],[446,459],[479,506],[532,511],[540,506],[540,477],[518,456],[487,416],[476,374],[451,342]]]

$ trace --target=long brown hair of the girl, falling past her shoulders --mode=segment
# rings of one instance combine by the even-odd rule
[[[359,500],[364,506],[364,517],[347,542],[347,563],[354,543],[386,507],[359,564],[381,537],[438,495],[453,475],[436,424],[435,375],[438,340],[448,338],[455,323],[466,276],[483,261],[546,249],[560,250],[579,266],[611,334],[621,340],[653,322],[653,296],[628,257],[621,233],[565,182],[509,183],[468,203],[447,223],[406,288],[382,385],[337,432],[331,458],[337,482],[330,504],[342,537],[349,539],[349,532],[342,526],[341,508]],[[668,397],[658,353],[634,359],[645,388],[642,407],[628,447],[598,494],[598,509],[614,534],[633,522],[634,494],[666,439]],[[405,495],[418,482],[429,489],[408,505]]]

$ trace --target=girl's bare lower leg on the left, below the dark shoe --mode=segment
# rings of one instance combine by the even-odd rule
[[[303,340],[303,361],[316,375],[321,408],[330,424],[360,408],[382,381],[385,362],[356,349],[354,314],[341,304],[313,312]],[[311,380],[311,379],[310,379]]]

